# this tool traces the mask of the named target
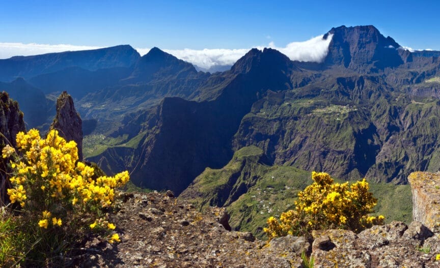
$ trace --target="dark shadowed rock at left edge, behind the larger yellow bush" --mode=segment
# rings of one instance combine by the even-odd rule
[[[9,98],[6,92],[0,93],[0,150],[7,144],[16,146],[15,137],[20,131],[26,131],[23,121],[23,113],[18,103]],[[7,162],[0,158],[0,204],[5,201],[7,188],[6,174]]]

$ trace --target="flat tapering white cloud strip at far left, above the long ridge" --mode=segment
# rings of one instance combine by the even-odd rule
[[[0,58],[12,56],[30,56],[52,52],[75,51],[97,49],[97,46],[75,46],[75,45],[48,45],[48,44],[23,44],[23,43],[0,43]]]

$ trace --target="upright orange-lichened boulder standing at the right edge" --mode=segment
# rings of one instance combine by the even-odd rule
[[[412,172],[408,181],[412,190],[412,220],[440,232],[440,173]]]

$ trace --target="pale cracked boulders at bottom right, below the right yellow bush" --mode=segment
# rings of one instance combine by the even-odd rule
[[[396,221],[359,234],[348,230],[315,231],[311,257],[315,268],[438,267],[438,252],[432,249],[440,245],[440,239],[432,235],[419,222],[407,226]]]

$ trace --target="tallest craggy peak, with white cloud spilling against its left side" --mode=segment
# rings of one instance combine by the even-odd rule
[[[324,35],[331,37],[325,58],[327,65],[342,65],[356,71],[371,71],[397,67],[403,63],[391,37],[384,37],[373,25],[345,25],[332,28]]]

